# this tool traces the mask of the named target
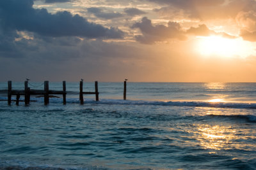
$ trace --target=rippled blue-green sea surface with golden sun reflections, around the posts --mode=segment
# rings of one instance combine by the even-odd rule
[[[123,82],[99,82],[100,101],[81,105],[79,82],[67,82],[67,104],[47,106],[40,96],[8,106],[7,89],[1,82],[0,169],[256,169],[256,83],[128,81],[124,101]]]

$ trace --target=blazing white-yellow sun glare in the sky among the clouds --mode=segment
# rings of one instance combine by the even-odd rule
[[[221,57],[248,57],[255,54],[252,43],[241,38],[229,39],[221,36],[198,36],[197,50],[204,56],[218,55]]]

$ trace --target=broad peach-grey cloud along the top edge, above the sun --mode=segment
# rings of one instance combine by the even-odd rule
[[[161,7],[163,16],[196,20],[235,19],[240,11],[255,11],[254,0],[147,0]]]

